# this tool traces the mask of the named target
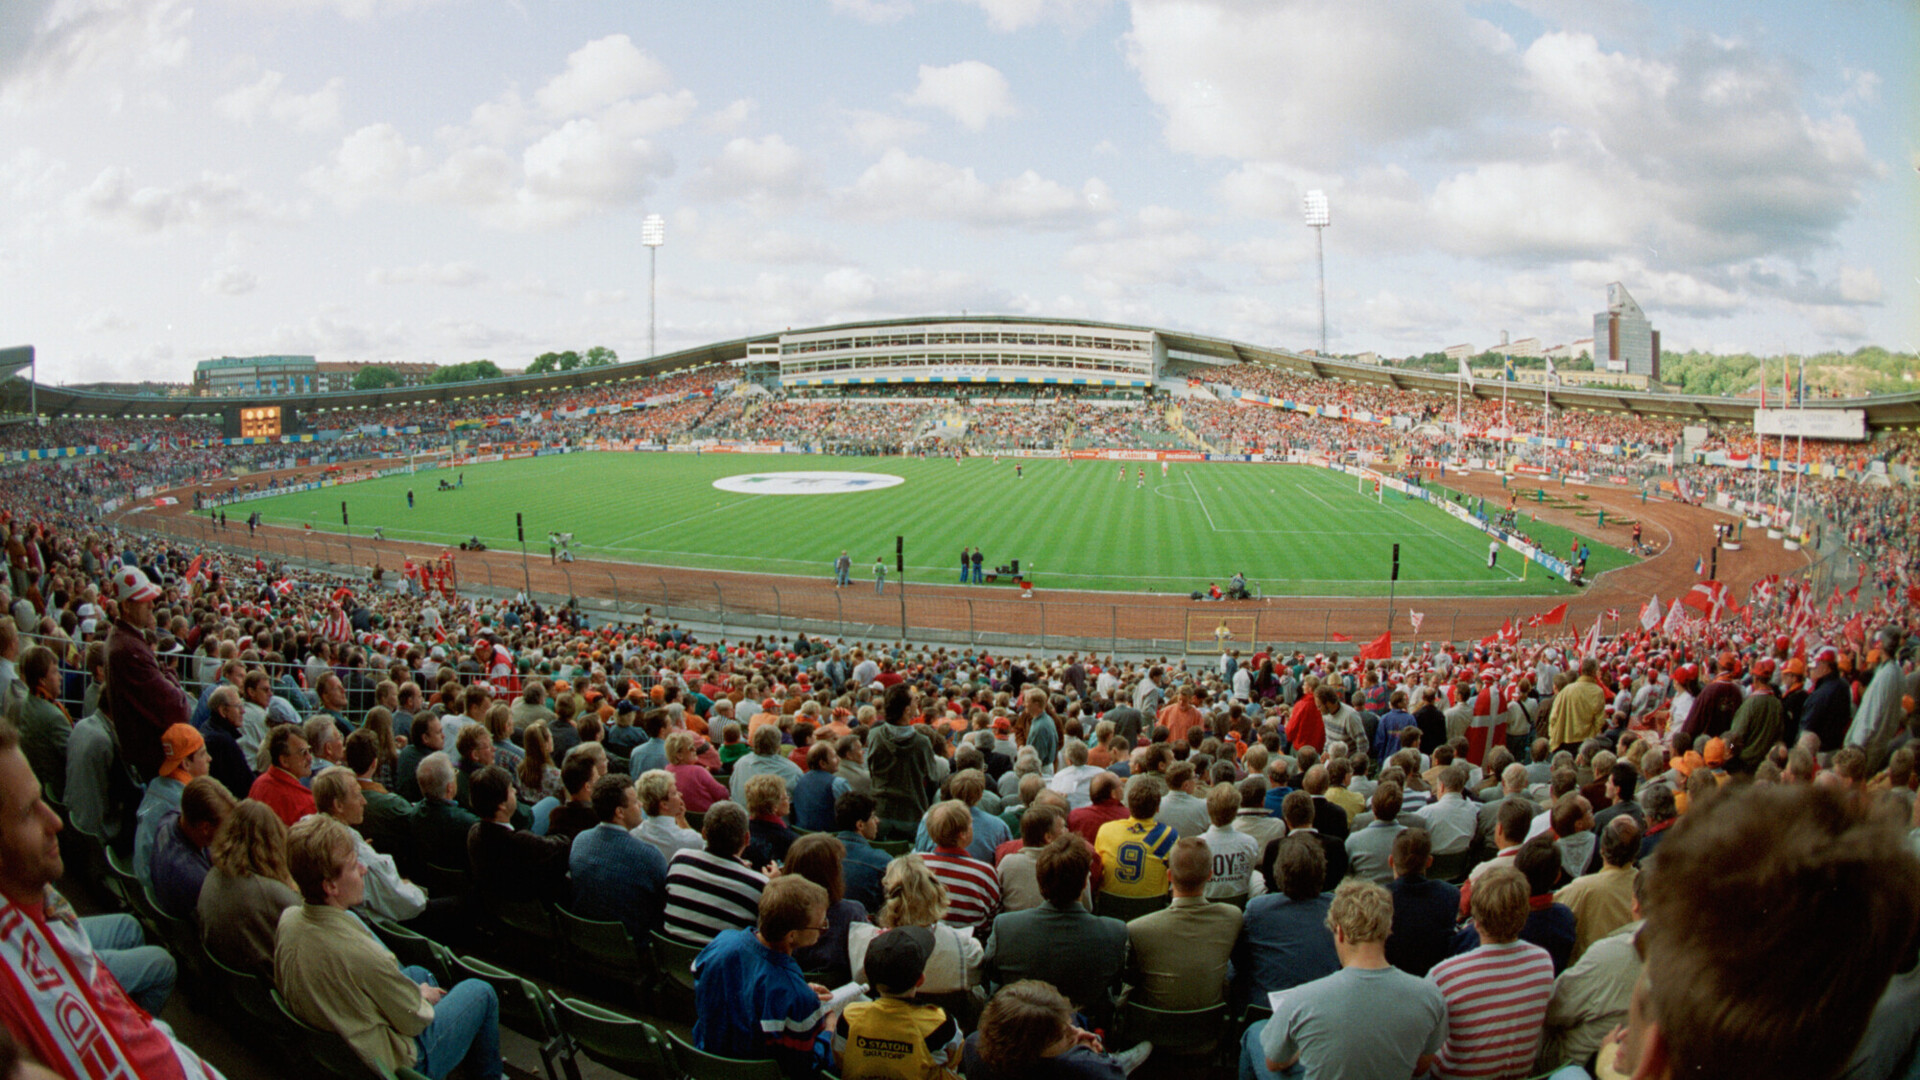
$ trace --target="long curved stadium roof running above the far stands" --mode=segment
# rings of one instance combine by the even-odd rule
[[[253,405],[253,404],[294,405],[301,411],[351,409],[351,407],[374,409],[374,407],[409,405],[420,402],[449,402],[449,400],[476,398],[476,396],[568,390],[578,386],[593,386],[601,382],[641,379],[649,375],[666,375],[687,367],[703,367],[718,361],[743,359],[747,356],[749,344],[776,342],[781,332],[812,334],[824,331],[856,331],[856,329],[879,331],[879,329],[924,327],[939,323],[1004,323],[1004,325],[1056,325],[1056,327],[1075,325],[1075,327],[1087,327],[1089,331],[1096,329],[1150,331],[1160,334],[1160,338],[1167,346],[1167,352],[1175,354],[1175,361],[1179,361],[1179,356],[1185,354],[1200,363],[1204,363],[1206,359],[1227,361],[1227,363],[1235,361],[1263,363],[1269,367],[1313,375],[1319,379],[1373,382],[1373,384],[1394,386],[1400,390],[1427,390],[1448,396],[1452,396],[1455,390],[1453,375],[1438,375],[1430,371],[1407,371],[1400,367],[1386,367],[1375,363],[1356,363],[1356,361],[1332,359],[1325,356],[1302,354],[1283,348],[1235,342],[1229,338],[1192,334],[1185,331],[1133,327],[1125,323],[1096,323],[1087,319],[1044,319],[1027,315],[924,315],[910,319],[881,319],[866,323],[808,327],[804,331],[791,331],[791,329],[776,331],[776,332],[753,334],[745,338],[733,338],[728,342],[680,350],[651,359],[616,363],[611,367],[588,367],[588,369],[559,371],[549,375],[516,375],[509,379],[486,379],[474,382],[396,386],[386,390],[344,390],[334,394],[296,394],[296,396],[275,394],[271,398],[246,398],[246,396],[161,398],[161,396],[134,396],[134,394],[106,394],[98,390],[67,390],[61,386],[42,384],[38,388],[38,405],[40,411],[50,417],[211,415],[227,407]],[[1507,382],[1505,388],[1507,388],[1507,400],[1521,405],[1526,404],[1538,405],[1542,404],[1542,396],[1546,394],[1546,390],[1538,384]],[[1475,398],[1498,398],[1500,390],[1501,382],[1482,379],[1471,390],[1471,394]],[[1609,390],[1601,386],[1555,386],[1553,400],[1563,407],[1632,413],[1632,415],[1657,417],[1682,423],[1686,421],[1751,423],[1755,407],[1755,402],[1745,398],[1642,394],[1628,390]],[[25,409],[25,405],[27,405],[27,382],[21,379],[0,380],[0,411],[21,411]],[[1807,407],[1862,409],[1866,413],[1868,430],[1920,425],[1920,392],[1868,396],[1868,398],[1832,398],[1809,404]]]

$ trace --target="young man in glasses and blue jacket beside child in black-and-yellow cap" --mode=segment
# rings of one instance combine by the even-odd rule
[[[693,1045],[707,1053],[774,1059],[789,1076],[810,1076],[831,1013],[826,986],[808,984],[793,953],[828,930],[828,890],[781,876],[760,894],[760,926],[726,930],[693,959],[699,1022]]]

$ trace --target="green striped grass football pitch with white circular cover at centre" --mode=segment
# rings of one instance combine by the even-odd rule
[[[1227,588],[1242,571],[1261,596],[1386,596],[1400,544],[1400,596],[1559,596],[1572,586],[1503,550],[1486,569],[1486,538],[1444,511],[1309,465],[1056,461],[1006,457],[801,457],[747,454],[564,454],[422,469],[252,503],[267,525],[453,546],[480,536],[547,555],[547,532],[572,532],[582,559],[829,578],[845,550],[852,584],[872,588],[895,536],[906,578],[958,584],[960,548],[985,569],[1020,559],[1039,588],[1117,592]],[[442,479],[465,486],[440,492]],[[803,477],[795,477],[803,475]],[[852,475],[852,477],[845,477]],[[726,486],[716,486],[724,482]],[[415,505],[407,507],[407,492]],[[228,509],[232,515],[234,509]],[[1632,563],[1590,540],[1590,573]],[[1010,588],[1002,577],[998,586]]]

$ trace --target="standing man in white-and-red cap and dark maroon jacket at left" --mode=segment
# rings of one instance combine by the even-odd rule
[[[119,730],[121,755],[142,780],[159,773],[159,736],[173,724],[192,726],[194,700],[154,655],[154,601],[159,588],[140,567],[113,571],[113,630],[108,634],[106,703]]]

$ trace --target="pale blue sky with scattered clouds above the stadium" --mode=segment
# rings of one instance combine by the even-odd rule
[[[1910,0],[0,0],[0,346],[659,352],[1102,319],[1920,340]]]

